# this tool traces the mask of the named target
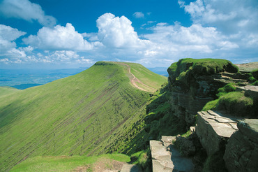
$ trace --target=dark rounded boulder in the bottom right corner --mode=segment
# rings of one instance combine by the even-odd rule
[[[224,160],[229,172],[257,171],[258,169],[258,119],[245,119],[237,124],[229,138]]]

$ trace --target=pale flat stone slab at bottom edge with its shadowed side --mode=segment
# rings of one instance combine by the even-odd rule
[[[162,136],[162,141],[172,143],[174,137]],[[153,172],[165,171],[193,171],[192,160],[181,156],[174,145],[167,146],[161,141],[150,141]]]

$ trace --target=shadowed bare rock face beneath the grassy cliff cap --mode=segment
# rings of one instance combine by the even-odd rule
[[[169,101],[174,115],[185,120],[187,127],[195,124],[195,115],[202,110],[208,101],[215,99],[215,94],[220,87],[232,83],[241,83],[245,86],[247,80],[234,79],[235,73],[214,73],[213,75],[191,75],[188,79],[188,87],[180,82],[170,81],[172,89]]]

